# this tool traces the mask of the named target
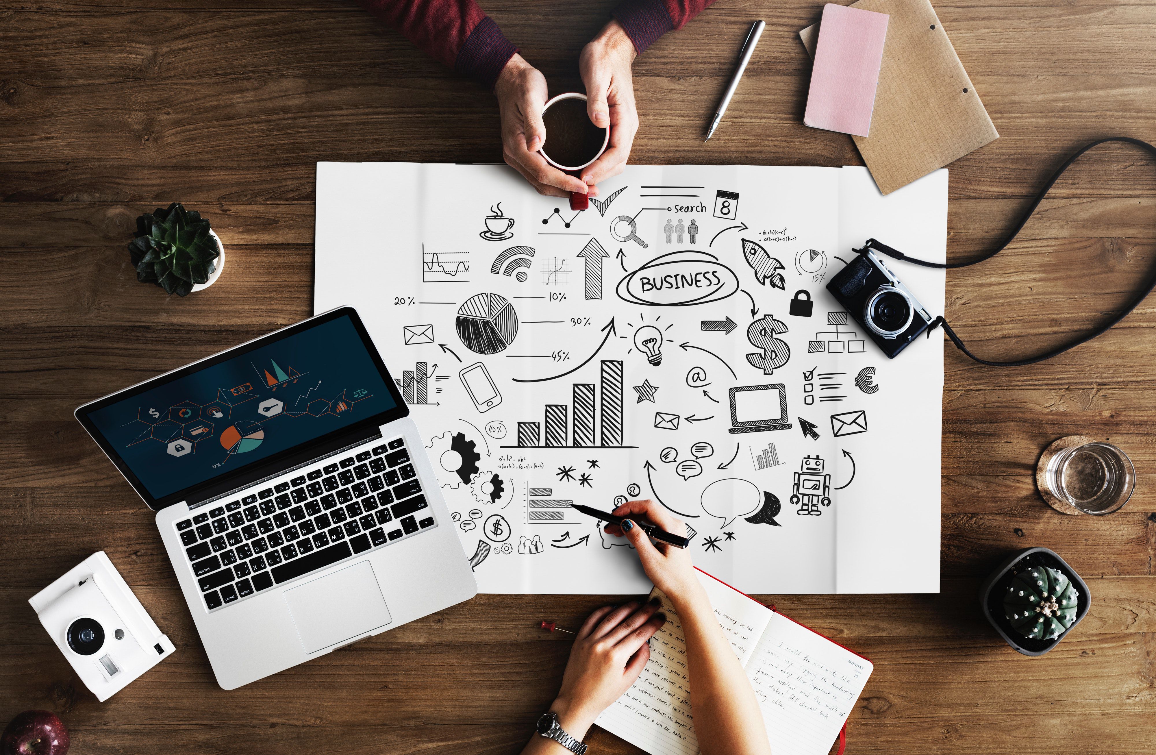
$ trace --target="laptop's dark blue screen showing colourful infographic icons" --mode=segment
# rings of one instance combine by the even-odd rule
[[[340,317],[90,416],[160,498],[394,406]]]

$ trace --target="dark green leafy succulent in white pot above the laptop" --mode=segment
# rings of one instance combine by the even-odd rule
[[[209,230],[200,213],[185,209],[180,202],[138,217],[135,238],[128,243],[136,280],[156,283],[177,296],[208,282],[221,257],[221,245]]]

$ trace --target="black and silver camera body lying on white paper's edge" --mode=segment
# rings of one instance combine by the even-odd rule
[[[867,249],[831,277],[827,290],[867,328],[888,358],[932,324],[919,299]]]

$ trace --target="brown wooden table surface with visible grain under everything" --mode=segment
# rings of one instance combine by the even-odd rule
[[[483,0],[550,82],[614,0]],[[637,163],[861,164],[801,125],[818,0],[722,0],[635,64]],[[957,0],[936,8],[999,140],[950,166],[948,256],[984,250],[1075,147],[1156,140],[1154,0]],[[718,134],[701,134],[748,25],[766,32]],[[8,0],[0,5],[0,723],[55,710],[75,753],[516,753],[551,700],[565,637],[610,598],[479,595],[225,693],[214,681],[153,516],[72,416],[80,404],[312,312],[314,162],[498,162],[490,94],[349,0]],[[210,290],[138,283],[134,219],[179,200],[228,246]],[[1156,165],[1101,148],[1007,252],[948,276],[947,314],[980,355],[1059,343],[1156,268]],[[350,219],[387,228],[381,216]],[[1146,302],[1051,363],[988,369],[948,345],[942,590],[765,597],[870,657],[850,752],[1156,750],[1156,379]],[[938,336],[939,334],[936,334]],[[1036,493],[1042,449],[1124,447],[1136,494],[1110,517]],[[902,461],[897,460],[897,468]],[[902,505],[897,503],[897,505]],[[1088,617],[1039,659],[977,606],[1006,554],[1058,550]],[[97,703],[28,598],[104,549],[177,652]],[[637,752],[606,732],[592,753]]]

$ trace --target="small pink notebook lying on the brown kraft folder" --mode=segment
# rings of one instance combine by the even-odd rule
[[[870,132],[875,84],[887,39],[885,13],[828,3],[818,27],[807,113],[812,128],[857,136]]]

